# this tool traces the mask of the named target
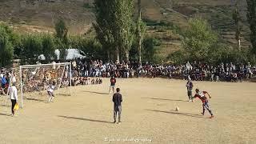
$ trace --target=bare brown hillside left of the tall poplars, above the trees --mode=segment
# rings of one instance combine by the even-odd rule
[[[82,34],[94,20],[92,0],[0,0],[0,21],[18,31],[53,31],[62,17],[70,32]]]

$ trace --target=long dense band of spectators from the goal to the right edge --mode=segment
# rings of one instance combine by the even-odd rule
[[[246,64],[220,63],[209,65],[206,62],[186,62],[182,65],[162,64],[155,65],[144,62],[102,62],[100,60],[86,62],[81,59],[72,62],[74,77],[91,78],[134,78],[134,77],[166,77],[166,78],[191,78],[194,81],[222,81],[242,82],[256,74],[255,66],[250,62]]]

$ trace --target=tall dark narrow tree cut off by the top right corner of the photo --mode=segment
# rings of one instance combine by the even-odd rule
[[[247,19],[250,24],[250,42],[256,54],[256,0],[247,1]]]

